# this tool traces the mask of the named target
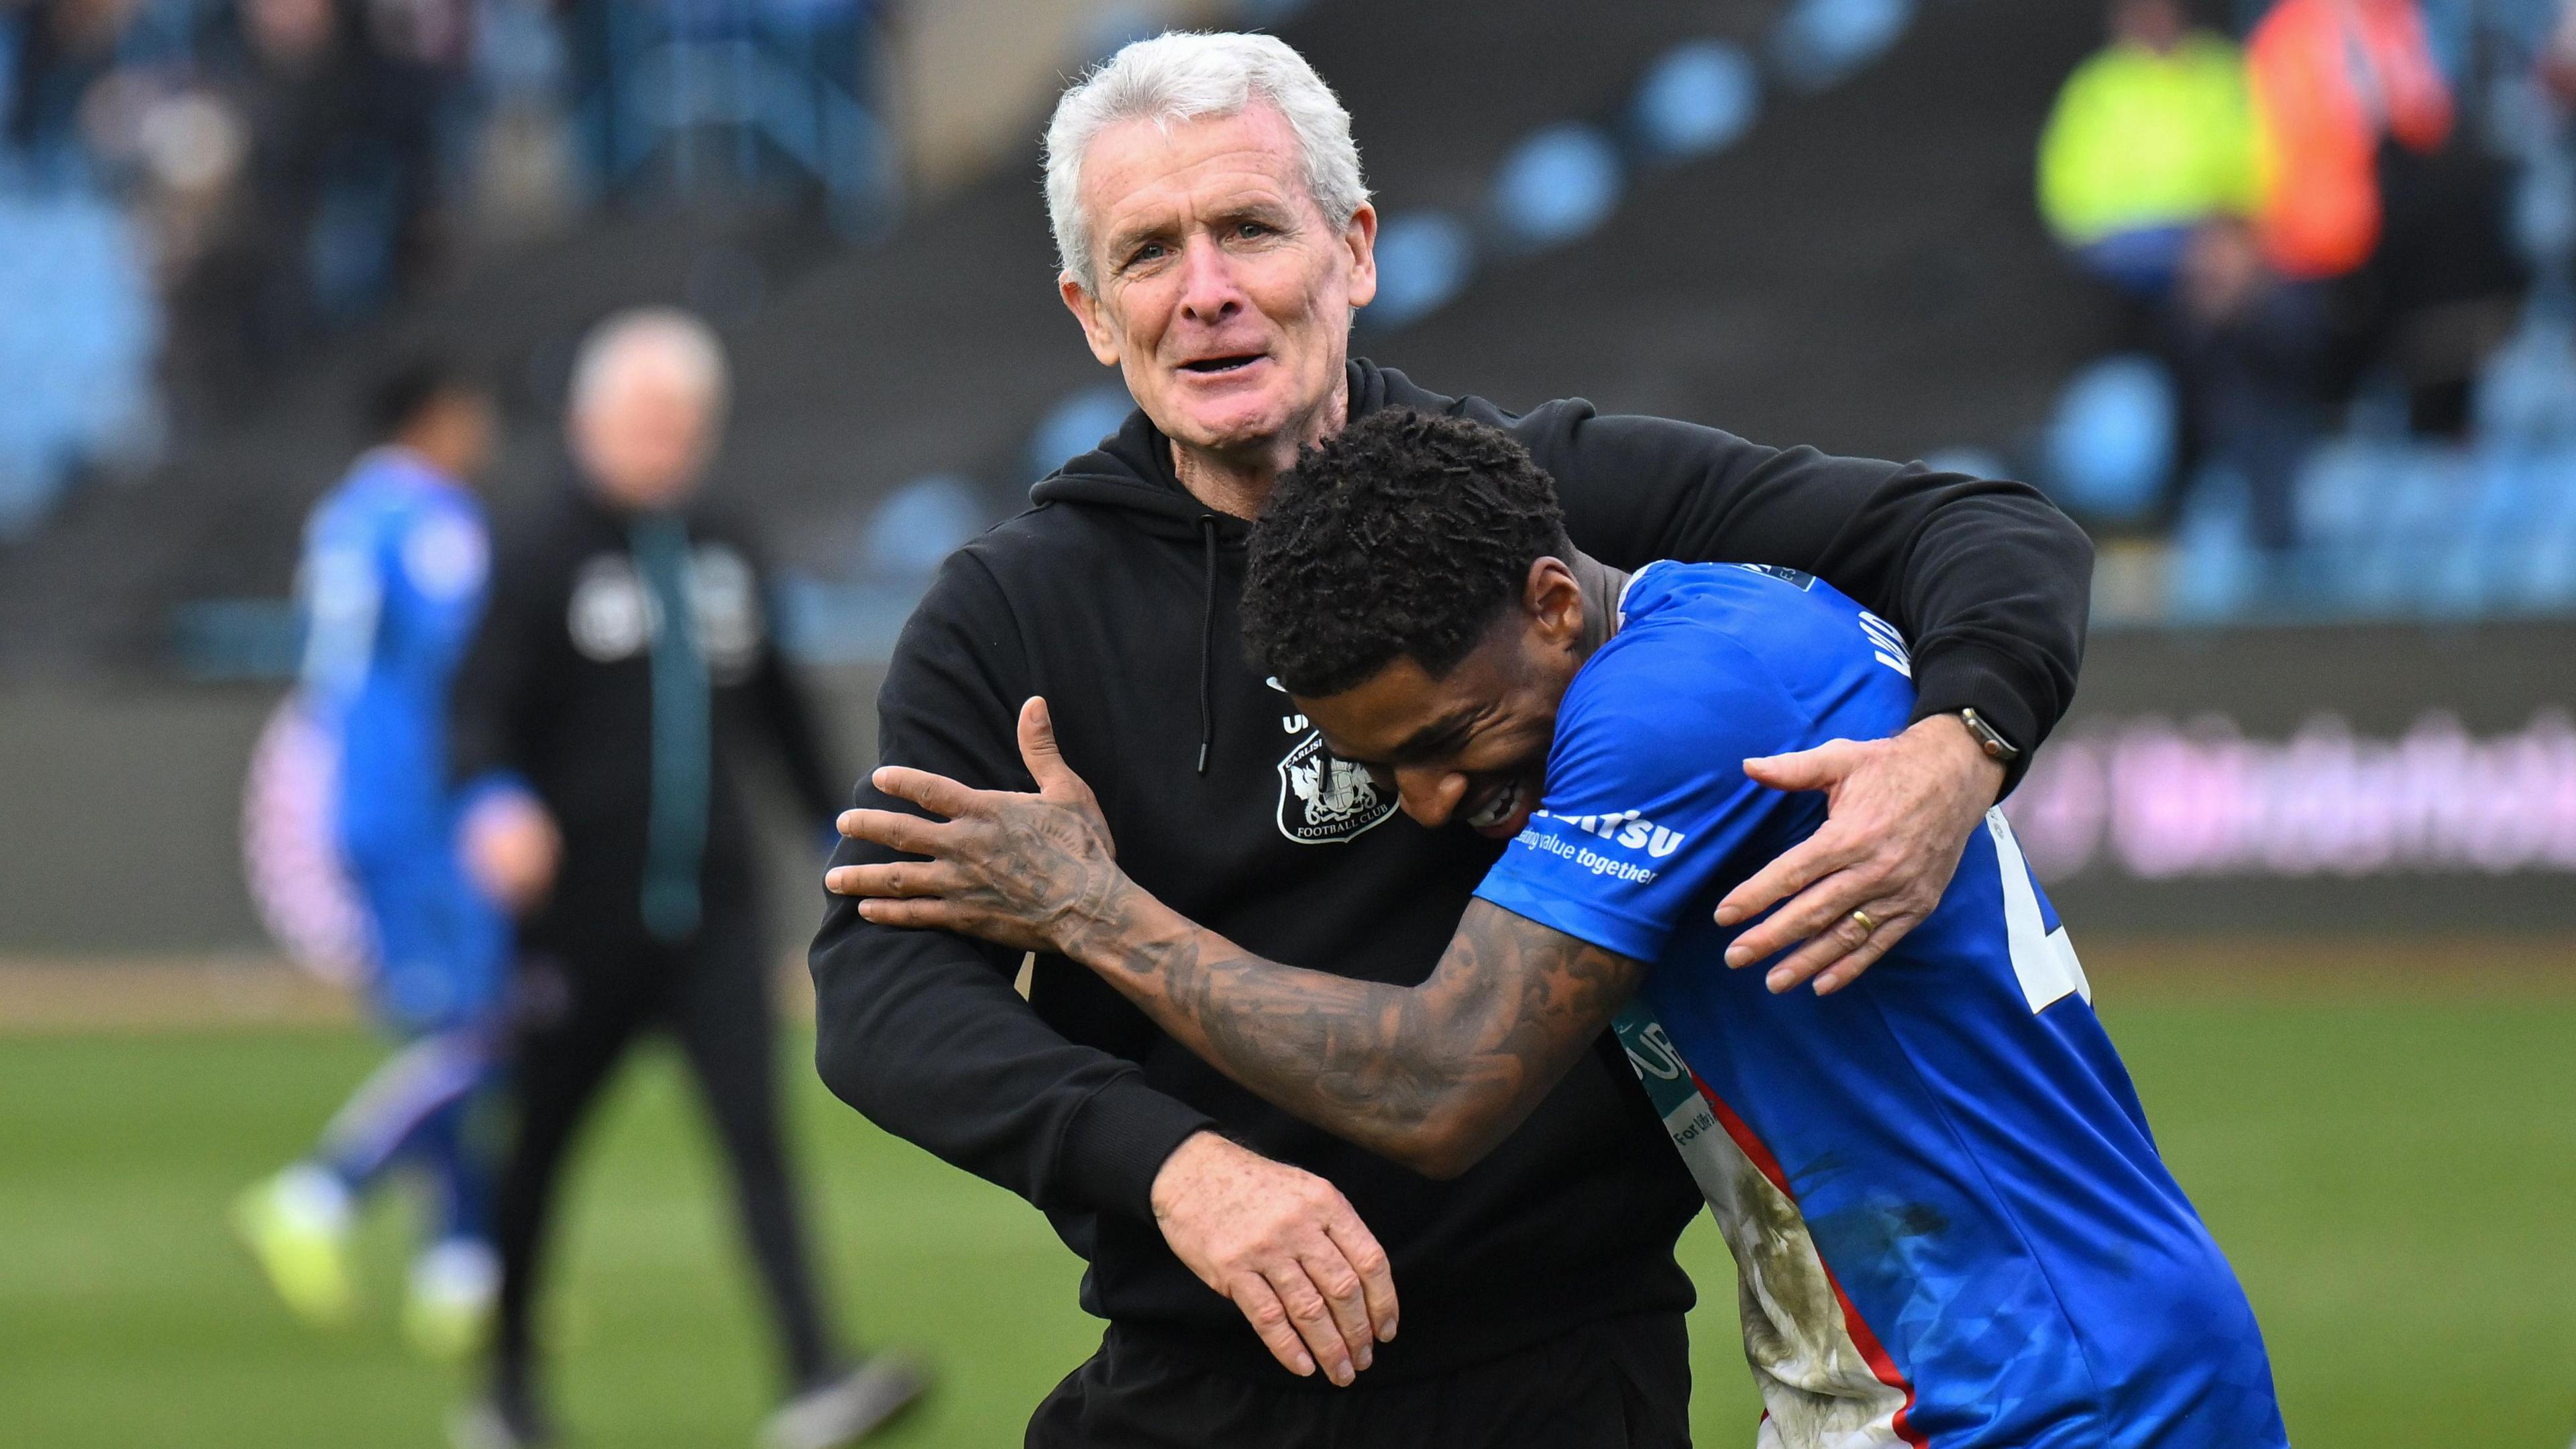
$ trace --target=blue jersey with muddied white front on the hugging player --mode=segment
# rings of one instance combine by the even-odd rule
[[[1716,902],[1824,822],[1741,761],[1875,740],[1904,637],[1788,570],[1651,565],[1479,897],[1649,962],[1620,1036],[1726,1230],[1765,1446],[2272,1449],[2272,1366],[2002,812],[1855,985]]]

